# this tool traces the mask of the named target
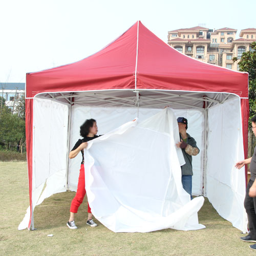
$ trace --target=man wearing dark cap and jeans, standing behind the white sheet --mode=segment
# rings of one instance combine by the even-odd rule
[[[178,126],[180,133],[180,142],[176,144],[180,147],[183,153],[185,164],[181,166],[182,171],[182,186],[186,192],[190,195],[192,200],[192,156],[196,156],[199,153],[196,140],[187,133],[187,119],[184,117],[178,117]]]

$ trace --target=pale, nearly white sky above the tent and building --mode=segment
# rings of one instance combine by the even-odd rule
[[[137,20],[167,42],[168,31],[256,28],[256,0],[2,0],[0,82],[81,60]]]

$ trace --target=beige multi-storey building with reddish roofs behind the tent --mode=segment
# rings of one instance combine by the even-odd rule
[[[250,44],[256,41],[256,29],[241,30],[239,39],[236,34],[236,29],[212,30],[198,26],[168,31],[168,44],[189,57],[239,70],[239,61],[233,62],[232,58],[240,59],[243,52],[250,50]]]

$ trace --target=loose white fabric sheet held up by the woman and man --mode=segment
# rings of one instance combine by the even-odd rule
[[[168,129],[158,126],[159,118]],[[204,228],[197,218],[204,198],[190,201],[182,188],[175,115],[165,109],[137,124],[88,142],[84,167],[93,215],[114,232]]]

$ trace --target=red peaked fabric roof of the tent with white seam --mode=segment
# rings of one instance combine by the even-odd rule
[[[228,92],[248,97],[248,74],[183,55],[137,22],[94,55],[28,73],[26,97],[45,92],[113,89]]]

